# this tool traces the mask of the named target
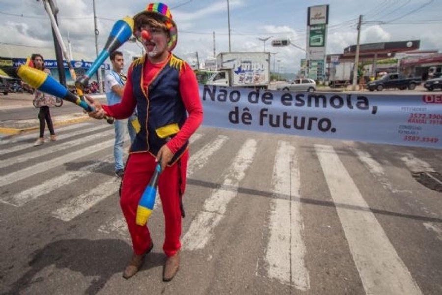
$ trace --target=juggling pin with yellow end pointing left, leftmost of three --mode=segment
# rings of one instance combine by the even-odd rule
[[[17,74],[23,81],[35,89],[75,103],[86,110],[86,112],[94,111],[94,109],[85,101],[81,100],[80,97],[70,92],[54,78],[39,69],[28,65],[21,65],[17,70]]]

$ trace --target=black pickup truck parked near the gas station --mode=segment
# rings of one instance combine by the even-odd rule
[[[397,88],[400,90],[410,89],[413,90],[416,88],[416,85],[421,84],[420,78],[405,78],[403,75],[398,73],[391,73],[384,75],[381,79],[371,81],[367,83],[367,89],[370,91],[378,90],[382,91],[383,89],[389,88]]]

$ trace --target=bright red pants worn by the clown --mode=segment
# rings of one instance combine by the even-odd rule
[[[166,231],[163,250],[167,257],[175,255],[181,247],[179,174],[181,174],[181,193],[184,193],[188,160],[187,150],[180,158],[180,165],[175,163],[171,167],[166,167],[158,180]],[[129,156],[124,171],[120,205],[131,234],[134,253],[137,255],[142,255],[150,246],[151,236],[148,227],[138,226],[135,219],[139,199],[154,173],[156,164],[155,158],[148,152],[133,153]]]

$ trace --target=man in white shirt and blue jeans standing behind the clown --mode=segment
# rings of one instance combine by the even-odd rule
[[[108,72],[105,79],[106,98],[108,105],[113,105],[121,102],[123,96],[124,83],[126,82],[126,76],[122,74],[124,67],[123,54],[119,51],[114,51],[110,55],[112,70]],[[115,120],[113,126],[115,128],[115,143],[113,145],[113,156],[115,158],[115,175],[122,178],[124,174],[123,163],[123,145],[124,135],[126,134],[125,125],[129,131],[131,143],[134,141],[136,131],[132,125],[132,120],[137,119],[136,116],[132,116],[128,120]]]

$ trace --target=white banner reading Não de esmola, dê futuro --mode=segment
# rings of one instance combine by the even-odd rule
[[[442,148],[442,94],[388,95],[203,86],[203,125]]]

